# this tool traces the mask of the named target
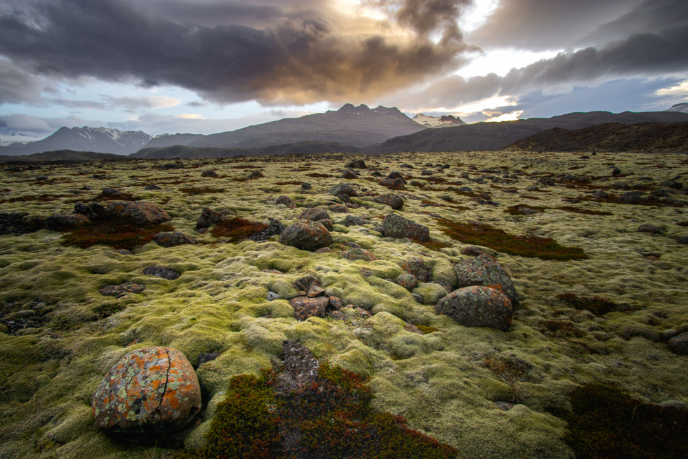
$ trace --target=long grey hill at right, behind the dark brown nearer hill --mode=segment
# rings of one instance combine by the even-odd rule
[[[609,111],[570,113],[552,118],[528,118],[503,122],[478,122],[473,125],[426,129],[424,131],[386,140],[379,145],[363,149],[364,153],[383,154],[404,151],[465,151],[498,150],[522,138],[547,129],[581,129],[608,122],[625,125],[638,122],[682,122],[688,114],[676,111],[625,111],[614,114]]]

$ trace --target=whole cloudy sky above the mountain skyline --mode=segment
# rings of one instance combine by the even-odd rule
[[[688,101],[686,0],[0,0],[0,134]]]

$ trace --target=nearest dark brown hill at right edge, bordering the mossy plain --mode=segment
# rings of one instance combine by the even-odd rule
[[[688,151],[688,121],[608,122],[582,129],[555,127],[518,140],[510,151]]]

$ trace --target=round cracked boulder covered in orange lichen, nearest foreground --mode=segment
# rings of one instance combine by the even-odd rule
[[[184,354],[169,348],[129,352],[110,369],[92,401],[96,423],[119,432],[169,432],[200,412],[201,388]]]

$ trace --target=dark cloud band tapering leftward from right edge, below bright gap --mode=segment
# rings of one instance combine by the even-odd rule
[[[505,76],[449,76],[404,98],[405,107],[456,107],[497,94],[548,92],[562,85],[596,85],[614,78],[643,78],[688,72],[688,25],[658,34],[636,34],[597,49],[560,53]]]

